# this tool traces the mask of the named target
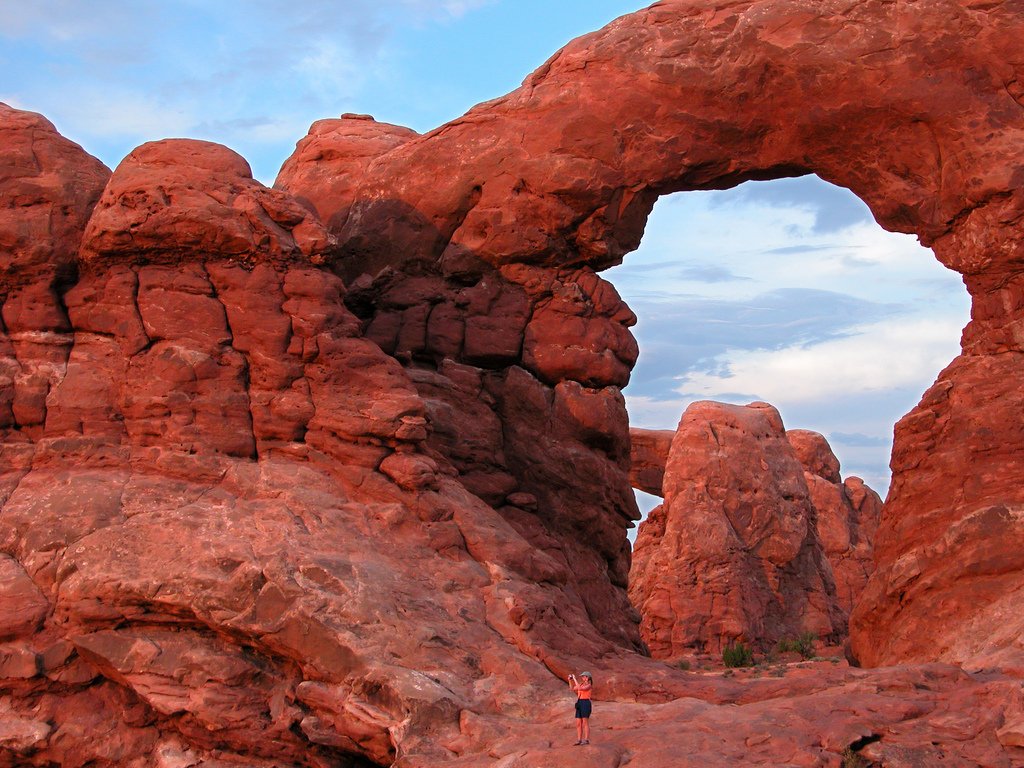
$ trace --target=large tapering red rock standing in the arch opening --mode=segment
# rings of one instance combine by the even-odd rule
[[[651,655],[845,633],[803,468],[775,409],[692,403],[664,492],[637,534],[630,572]]]

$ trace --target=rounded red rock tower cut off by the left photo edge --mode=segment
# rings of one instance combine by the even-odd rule
[[[0,488],[16,483],[24,440],[37,438],[71,347],[61,287],[82,228],[110,176],[40,115],[0,104]],[[0,489],[0,499],[6,493]]]

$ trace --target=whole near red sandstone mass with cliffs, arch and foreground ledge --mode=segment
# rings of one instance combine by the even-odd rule
[[[1022,31],[667,0],[431,133],[317,124],[275,189],[197,141],[109,175],[0,108],[0,764],[1022,762]],[[658,195],[805,172],[975,297],[897,428],[853,642],[985,673],[636,652],[637,350],[596,270]],[[617,725],[562,751],[584,667]]]

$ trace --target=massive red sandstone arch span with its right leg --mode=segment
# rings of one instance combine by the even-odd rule
[[[377,157],[336,159],[343,178],[365,181],[333,230],[362,249],[398,202],[417,214],[387,229],[399,258],[599,269],[637,245],[658,195],[810,172],[853,190],[883,227],[933,247],[974,297],[964,355],[897,427],[881,567],[854,645],[866,664],[964,660],[990,633],[978,627],[972,643],[929,622],[937,599],[948,615],[975,613],[945,589],[955,580],[938,574],[941,561],[971,563],[965,577],[980,568],[998,595],[1021,580],[1016,560],[983,564],[978,532],[950,543],[946,528],[1024,536],[1009,479],[1021,443],[996,426],[1014,421],[1021,373],[1022,23],[1019,3],[668,0],[574,41],[464,118]],[[329,219],[323,190],[300,178],[317,138],[304,142],[278,185]],[[439,167],[441,178],[418,170]],[[990,375],[1007,383],[979,414],[971,390]]]

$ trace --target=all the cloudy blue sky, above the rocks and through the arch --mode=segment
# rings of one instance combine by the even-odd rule
[[[204,138],[271,183],[319,118],[427,131],[506,93],[623,0],[0,0],[0,101],[46,115],[114,167]],[[605,273],[639,316],[638,426],[693,399],[764,399],[888,486],[892,427],[958,351],[958,275],[815,177],[660,200]],[[645,505],[646,506],[646,505]]]

